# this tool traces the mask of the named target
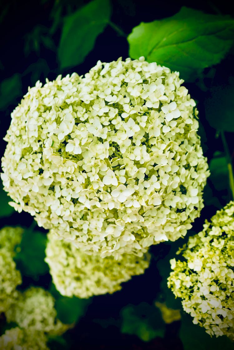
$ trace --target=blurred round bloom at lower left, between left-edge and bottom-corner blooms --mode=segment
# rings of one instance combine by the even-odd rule
[[[53,296],[43,288],[30,287],[19,293],[16,302],[6,312],[7,322],[15,322],[20,328],[34,329],[60,335],[69,326],[57,319]]]

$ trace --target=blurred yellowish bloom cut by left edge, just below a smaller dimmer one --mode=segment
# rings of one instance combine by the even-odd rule
[[[12,252],[0,248],[0,313],[6,312],[18,297],[16,287],[22,282]]]

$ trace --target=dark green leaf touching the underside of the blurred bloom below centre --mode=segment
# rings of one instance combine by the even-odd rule
[[[55,298],[55,309],[57,316],[63,323],[71,324],[77,322],[86,312],[92,298],[79,299],[75,296],[68,297],[61,295],[53,285],[51,284],[50,293]]]

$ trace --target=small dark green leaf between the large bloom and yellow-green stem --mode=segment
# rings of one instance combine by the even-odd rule
[[[209,162],[211,176],[209,179],[217,191],[229,188],[227,159],[222,153],[216,153],[215,157]]]

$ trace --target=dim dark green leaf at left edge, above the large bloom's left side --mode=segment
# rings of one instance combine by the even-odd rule
[[[10,78],[3,80],[0,84],[0,110],[7,107],[9,103],[14,102],[21,94],[22,84],[19,73],[15,73]]]

